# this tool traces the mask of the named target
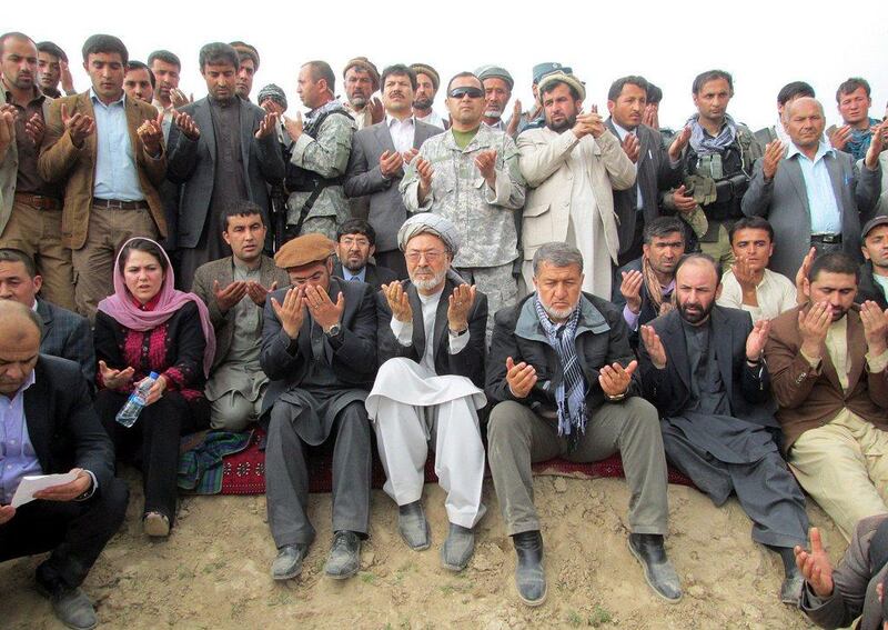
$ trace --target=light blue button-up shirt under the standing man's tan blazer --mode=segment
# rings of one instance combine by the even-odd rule
[[[127,94],[104,104],[90,88],[95,111],[95,179],[92,194],[99,199],[143,201],[135,153],[127,123]]]

